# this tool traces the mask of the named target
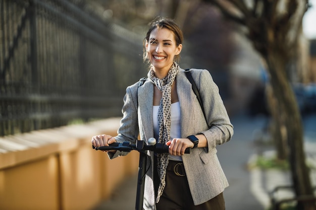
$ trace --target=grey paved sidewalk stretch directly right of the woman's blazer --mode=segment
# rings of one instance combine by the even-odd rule
[[[253,134],[265,126],[264,118],[232,118],[234,136],[230,142],[218,146],[218,157],[230,186],[224,196],[227,210],[264,210],[265,206],[251,191],[251,176],[247,168],[249,157],[256,154]]]

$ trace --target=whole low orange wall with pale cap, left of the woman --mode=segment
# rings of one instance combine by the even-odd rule
[[[87,210],[109,198],[137,173],[139,154],[110,160],[91,137],[118,126],[112,118],[0,138],[0,209]]]

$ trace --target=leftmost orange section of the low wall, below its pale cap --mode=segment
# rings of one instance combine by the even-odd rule
[[[0,209],[59,209],[58,159],[0,170]]]

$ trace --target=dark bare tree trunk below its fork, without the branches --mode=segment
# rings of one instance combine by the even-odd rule
[[[276,49],[274,49],[276,50]],[[296,196],[313,195],[309,171],[303,150],[303,127],[297,101],[286,75],[286,58],[279,51],[271,51],[266,57],[271,74],[271,85],[278,99],[280,114],[284,116],[289,145],[289,163]],[[314,202],[298,202],[300,210],[315,210]]]

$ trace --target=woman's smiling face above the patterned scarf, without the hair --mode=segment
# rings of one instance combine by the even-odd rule
[[[174,33],[167,28],[155,28],[146,42],[147,56],[153,71],[165,76],[173,64],[175,55],[180,54],[181,49],[182,44],[177,46]]]

